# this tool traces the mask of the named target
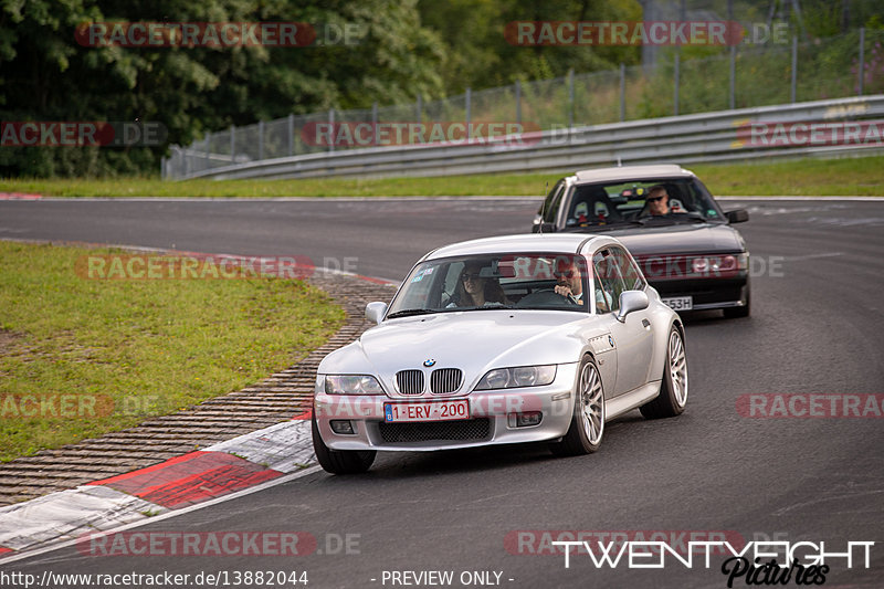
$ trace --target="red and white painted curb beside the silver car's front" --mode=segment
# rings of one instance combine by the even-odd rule
[[[252,488],[315,462],[311,414],[76,488],[0,507],[0,562]]]

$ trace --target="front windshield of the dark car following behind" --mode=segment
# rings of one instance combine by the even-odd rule
[[[662,198],[663,207],[652,207],[649,198]],[[577,185],[566,214],[565,229],[725,222],[718,204],[695,178]]]

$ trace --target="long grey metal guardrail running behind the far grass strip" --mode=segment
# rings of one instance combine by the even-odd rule
[[[878,151],[877,141],[853,145],[753,145],[749,123],[834,123],[884,116],[884,95],[761,106],[525,134],[516,141],[372,147],[249,161],[187,178],[316,178],[452,176],[573,170],[622,162],[715,162],[771,157]],[[180,148],[179,148],[180,149]],[[210,155],[211,156],[211,155]],[[229,159],[229,158],[228,158]]]

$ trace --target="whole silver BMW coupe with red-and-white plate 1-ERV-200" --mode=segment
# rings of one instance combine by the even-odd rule
[[[313,443],[328,472],[377,451],[548,442],[597,451],[607,421],[687,402],[684,327],[614,238],[532,234],[424,255],[377,325],[319,365]]]

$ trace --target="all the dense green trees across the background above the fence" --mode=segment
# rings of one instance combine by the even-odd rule
[[[724,14],[724,1],[701,3]],[[764,18],[768,4],[734,1],[753,18]],[[882,27],[873,0],[801,6],[803,27],[821,34]],[[156,173],[169,145],[230,125],[638,64],[635,46],[519,48],[502,31],[518,20],[641,18],[640,0],[4,0],[0,119],[156,122],[168,136],[154,148],[3,146],[0,177]],[[93,48],[75,41],[78,25],[115,21],[296,21],[315,24],[320,41],[325,27],[349,24],[361,36],[358,44],[304,48]]]

